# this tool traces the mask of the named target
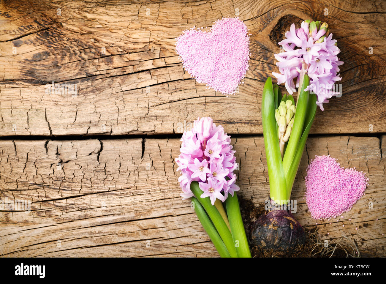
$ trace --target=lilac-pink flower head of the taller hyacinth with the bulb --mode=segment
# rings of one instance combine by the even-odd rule
[[[272,74],[278,79],[278,84],[285,83],[289,94],[301,87],[302,78],[307,73],[310,78],[306,90],[317,95],[317,105],[323,111],[323,103],[327,103],[336,91],[335,82],[340,81],[339,66],[343,64],[337,55],[340,50],[337,41],[332,39],[328,24],[320,21],[305,20],[299,29],[295,24],[285,33],[286,39],[279,44],[284,52],[274,54],[279,62],[279,72]],[[294,80],[296,83],[294,83]]]

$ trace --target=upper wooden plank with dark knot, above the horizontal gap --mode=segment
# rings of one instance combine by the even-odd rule
[[[289,22],[309,18],[328,22],[345,61],[343,97],[318,110],[311,132],[386,128],[384,2],[20,0],[0,10],[1,136],[182,133],[198,116],[228,133],[261,134],[262,86],[277,69],[277,42]],[[252,34],[250,70],[225,97],[190,78],[174,44],[185,29],[235,15]],[[46,94],[52,81],[76,84],[77,95]]]

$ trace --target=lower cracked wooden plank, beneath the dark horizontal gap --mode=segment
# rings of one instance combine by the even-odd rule
[[[269,185],[262,136],[232,142],[240,194],[253,196],[255,204],[264,202]],[[217,256],[190,201],[179,197],[174,163],[179,146],[178,139],[0,140],[0,200],[32,202],[27,213],[0,211],[0,255]],[[295,216],[306,229],[316,223],[303,200],[305,169],[316,154],[330,154],[341,166],[356,167],[370,178],[366,194],[342,221],[317,221],[321,238],[346,235],[357,241],[363,256],[385,256],[380,139],[308,139],[292,194]]]

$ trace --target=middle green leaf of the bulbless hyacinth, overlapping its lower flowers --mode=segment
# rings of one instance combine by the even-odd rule
[[[196,181],[191,182],[190,190],[193,192],[193,194],[198,199],[198,201],[200,201],[205,211],[207,211],[209,218],[212,220],[213,225],[217,229],[225,246],[227,247],[230,256],[237,257],[232,234],[230,233],[227,227],[227,224],[225,224],[225,221],[221,217],[221,214],[218,212],[217,208],[213,206],[212,203],[210,202],[210,198],[209,197],[201,198],[201,194],[203,194],[203,191],[200,189],[200,186]]]

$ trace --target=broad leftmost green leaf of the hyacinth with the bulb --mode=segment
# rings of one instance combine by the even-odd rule
[[[268,77],[262,94],[261,117],[267,156],[269,191],[271,199],[285,202],[287,200],[287,184],[279,147],[275,109],[272,79]]]

